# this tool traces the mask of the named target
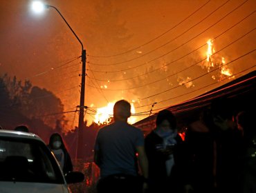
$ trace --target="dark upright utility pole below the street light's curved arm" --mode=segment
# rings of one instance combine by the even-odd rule
[[[81,93],[80,93],[80,110],[78,122],[78,142],[77,142],[77,159],[83,159],[84,152],[84,94],[85,94],[85,76],[86,76],[86,51],[82,50],[82,80],[81,80]]]

